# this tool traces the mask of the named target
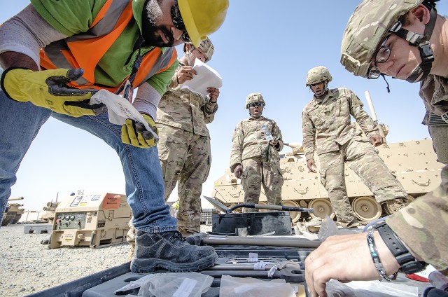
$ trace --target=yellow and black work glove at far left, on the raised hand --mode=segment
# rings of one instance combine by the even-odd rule
[[[107,111],[104,104],[90,105],[96,90],[80,90],[67,85],[83,76],[83,69],[32,71],[10,67],[1,75],[5,95],[18,102],[31,102],[69,116],[96,116]]]

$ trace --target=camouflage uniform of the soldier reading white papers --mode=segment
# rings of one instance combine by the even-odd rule
[[[183,63],[179,62],[179,67]],[[165,181],[165,201],[178,184],[178,230],[187,236],[200,232],[202,184],[211,164],[207,123],[214,120],[218,104],[206,96],[179,88],[176,74],[157,110],[159,159]]]

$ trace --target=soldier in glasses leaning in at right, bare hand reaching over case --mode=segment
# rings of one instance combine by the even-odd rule
[[[344,32],[341,62],[357,76],[374,78],[376,72],[376,75],[388,74],[401,79],[411,76],[408,81],[423,79],[421,96],[426,106],[444,120],[447,114],[447,104],[444,102],[448,90],[445,62],[448,59],[448,45],[443,41],[448,39],[448,22],[447,18],[437,15],[434,6],[433,1],[423,0],[363,1]],[[431,29],[433,26],[434,30]],[[400,28],[409,31],[402,34],[404,31],[400,32]],[[432,31],[434,34],[431,34]],[[409,36],[419,36],[414,32],[426,36],[414,39],[416,42],[423,41],[419,47],[407,41]],[[386,42],[384,37],[388,37]],[[419,48],[430,51],[419,55]],[[429,60],[432,60],[431,56],[434,60],[422,63],[428,61],[428,57],[424,58],[427,54]],[[397,72],[392,67],[394,63],[402,71]],[[414,69],[416,75],[412,74]],[[447,134],[440,136],[433,134],[433,140],[443,143]],[[447,147],[446,142],[444,146]],[[439,147],[435,146],[436,153],[442,160]],[[389,216],[386,224],[409,249],[411,261],[413,256],[448,276],[448,166],[442,169],[441,177],[442,184],[438,188]],[[402,269],[398,258],[393,256],[392,249],[386,246],[377,231],[374,231],[374,241],[386,275]],[[379,273],[372,264],[365,233],[330,237],[305,261],[308,289],[312,296],[326,296],[325,282],[330,279],[377,279]]]

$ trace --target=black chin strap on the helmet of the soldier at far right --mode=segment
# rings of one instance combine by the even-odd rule
[[[435,7],[433,7],[430,9],[430,19],[425,27],[425,32],[423,33],[423,35],[410,32],[407,29],[403,29],[401,22],[396,22],[390,30],[391,33],[401,37],[402,39],[406,39],[409,42],[409,45],[417,46],[419,48],[421,63],[414,69],[414,71],[412,71],[412,74],[409,75],[408,78],[406,78],[406,81],[408,81],[409,83],[423,81],[423,79],[428,76],[431,67],[433,67],[434,52],[430,47],[429,39],[433,34],[436,19],[437,11]],[[421,75],[422,73],[423,75]],[[419,76],[421,76],[421,78],[418,80]]]

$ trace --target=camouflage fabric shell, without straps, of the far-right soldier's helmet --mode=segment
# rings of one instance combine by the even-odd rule
[[[341,64],[356,76],[367,77],[379,42],[392,25],[423,0],[364,0],[346,25],[341,46]]]

